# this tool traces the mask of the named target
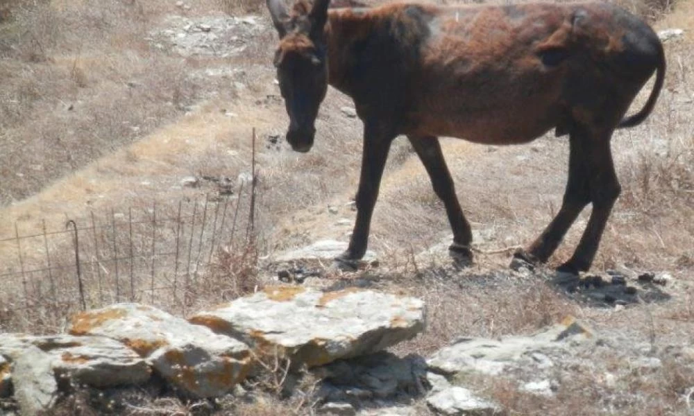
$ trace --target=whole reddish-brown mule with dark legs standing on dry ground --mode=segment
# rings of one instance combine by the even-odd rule
[[[562,268],[588,270],[620,193],[610,139],[641,123],[665,75],[663,47],[641,19],[609,3],[453,6],[392,3],[328,10],[330,0],[267,0],[280,35],[275,64],[291,120],[287,141],[310,150],[328,84],[353,98],[364,122],[357,221],[342,260],[366,252],[371,214],[391,141],[407,135],[446,206],[450,250],[471,259],[472,234],[439,136],[522,144],[568,134],[564,202],[516,259],[544,262],[578,214],[593,211]],[[656,72],[643,109],[625,113]]]

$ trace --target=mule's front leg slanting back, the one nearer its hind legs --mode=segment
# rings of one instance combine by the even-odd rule
[[[470,250],[472,232],[470,224],[463,215],[458,198],[455,196],[455,185],[443,159],[439,139],[434,136],[408,136],[414,151],[421,159],[434,187],[434,192],[443,201],[448,214],[448,222],[453,231],[453,243],[450,252],[459,257],[460,261],[471,262],[473,254]]]

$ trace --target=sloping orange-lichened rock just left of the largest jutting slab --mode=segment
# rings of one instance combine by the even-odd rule
[[[253,364],[244,343],[152,306],[115,304],[79,313],[69,332],[119,340],[149,358],[164,379],[193,397],[225,395],[246,378]]]

